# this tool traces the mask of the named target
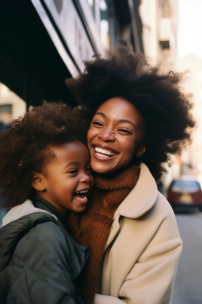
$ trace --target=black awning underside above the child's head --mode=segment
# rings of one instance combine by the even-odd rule
[[[71,77],[31,0],[0,1],[0,82],[29,105],[63,100]]]

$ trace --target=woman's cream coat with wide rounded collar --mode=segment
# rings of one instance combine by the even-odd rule
[[[175,215],[145,164],[119,205],[94,304],[171,304],[182,252]]]

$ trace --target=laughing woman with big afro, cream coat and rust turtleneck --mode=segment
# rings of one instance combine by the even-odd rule
[[[92,119],[87,139],[95,187],[85,212],[68,221],[72,236],[90,246],[86,304],[171,304],[182,241],[156,182],[195,127],[182,79],[119,46],[66,80]]]

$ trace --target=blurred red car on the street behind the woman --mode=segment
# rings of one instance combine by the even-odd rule
[[[174,211],[202,211],[202,188],[195,176],[173,180],[167,199]]]

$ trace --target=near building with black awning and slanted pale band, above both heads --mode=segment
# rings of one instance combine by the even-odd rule
[[[0,83],[25,102],[74,104],[64,79],[117,43],[144,52],[138,0],[0,1]],[[2,89],[5,91],[4,89]],[[9,93],[10,94],[10,93]],[[11,96],[11,94],[10,94]],[[6,98],[0,98],[1,110]],[[12,112],[13,113],[13,112]],[[11,115],[16,117],[17,113]]]

